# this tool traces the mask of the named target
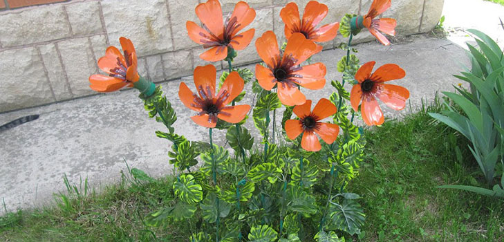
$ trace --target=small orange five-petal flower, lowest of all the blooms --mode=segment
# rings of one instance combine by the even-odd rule
[[[313,111],[310,112],[311,107],[312,100],[306,100],[303,105],[294,107],[294,113],[299,117],[299,120],[287,120],[286,133],[291,140],[303,133],[301,147],[306,151],[319,151],[320,142],[315,133],[328,144],[332,144],[338,136],[339,126],[337,124],[320,122],[320,120],[335,114],[337,109],[332,102],[325,98],[319,100]]]

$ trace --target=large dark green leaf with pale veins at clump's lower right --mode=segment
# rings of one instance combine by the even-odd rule
[[[330,214],[331,225],[351,235],[360,234],[366,215],[357,201],[344,199],[342,205],[331,202],[330,207],[333,211]]]

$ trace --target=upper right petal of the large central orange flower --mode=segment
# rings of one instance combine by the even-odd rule
[[[296,66],[306,61],[306,59],[317,53],[318,50],[319,48],[315,42],[306,39],[300,32],[295,32],[287,41],[282,62],[288,60],[286,57],[292,57],[296,61],[293,65]]]

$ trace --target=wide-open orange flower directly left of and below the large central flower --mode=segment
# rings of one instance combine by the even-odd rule
[[[199,112],[191,119],[196,124],[207,128],[214,128],[217,118],[236,124],[243,120],[250,110],[249,105],[226,106],[243,90],[243,79],[236,71],[227,75],[218,93],[215,92],[215,77],[215,66],[198,66],[194,69],[194,85],[199,96],[194,94],[184,82],[180,83],[178,89],[178,97],[183,104]]]

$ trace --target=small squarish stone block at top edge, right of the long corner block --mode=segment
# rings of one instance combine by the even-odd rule
[[[99,4],[97,1],[85,1],[65,7],[74,35],[92,35],[103,32]]]

